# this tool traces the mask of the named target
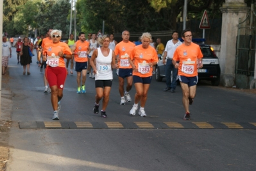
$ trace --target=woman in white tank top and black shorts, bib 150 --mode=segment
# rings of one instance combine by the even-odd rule
[[[112,86],[113,72],[115,68],[115,53],[112,49],[108,48],[110,38],[104,35],[101,40],[98,39],[101,47],[97,48],[92,57],[90,58],[90,65],[92,66],[95,74],[95,88],[96,88],[96,101],[93,111],[95,114],[99,112],[99,101],[103,97],[103,104],[101,109],[101,117],[106,118],[106,108],[109,101],[109,94]],[[96,61],[96,65],[94,64]],[[104,95],[104,96],[103,96]]]

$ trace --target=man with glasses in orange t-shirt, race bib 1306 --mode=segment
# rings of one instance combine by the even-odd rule
[[[182,39],[184,43],[178,46],[173,54],[173,65],[178,69],[178,79],[183,92],[182,102],[185,108],[183,120],[190,120],[189,104],[192,104],[196,96],[197,69],[203,67],[201,63],[203,54],[199,45],[192,42],[190,29],[182,31]]]

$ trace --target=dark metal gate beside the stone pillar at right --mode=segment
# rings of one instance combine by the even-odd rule
[[[256,13],[251,12],[245,20],[239,19],[237,47],[235,54],[235,74],[254,77],[256,48]]]

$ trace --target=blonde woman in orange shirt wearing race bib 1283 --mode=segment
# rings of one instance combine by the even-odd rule
[[[138,103],[141,101],[139,115],[146,117],[144,106],[146,104],[149,85],[152,79],[152,68],[157,65],[157,51],[151,47],[150,33],[143,33],[141,36],[141,45],[137,45],[130,53],[129,62],[133,68],[133,83],[136,89],[135,100],[130,115],[135,115],[138,108]]]

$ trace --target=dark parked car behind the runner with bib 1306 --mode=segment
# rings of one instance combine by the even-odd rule
[[[214,53],[214,49],[210,45],[198,44],[200,45],[201,52],[203,53],[203,68],[198,69],[198,79],[199,80],[209,80],[213,86],[218,86],[221,76],[221,68],[219,67],[219,58]],[[161,60],[158,61],[155,70],[155,79],[157,81],[162,81],[163,77],[166,77],[165,67],[163,64],[162,54]]]

